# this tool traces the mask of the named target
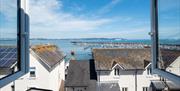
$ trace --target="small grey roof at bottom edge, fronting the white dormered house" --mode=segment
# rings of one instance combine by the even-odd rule
[[[100,91],[120,91],[118,83],[100,83]]]

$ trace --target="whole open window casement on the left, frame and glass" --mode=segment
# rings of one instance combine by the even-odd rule
[[[0,0],[0,88],[29,69],[26,0]]]

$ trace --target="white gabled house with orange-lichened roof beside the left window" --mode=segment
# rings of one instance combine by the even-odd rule
[[[55,45],[35,45],[30,48],[30,71],[0,91],[63,91],[64,57]]]

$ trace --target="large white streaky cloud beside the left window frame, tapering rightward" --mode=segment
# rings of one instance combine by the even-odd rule
[[[59,0],[30,0],[29,2],[32,36],[39,31],[48,34],[54,31],[58,33],[93,30],[112,22],[112,19],[90,19],[89,17],[77,17],[63,12],[63,4]]]

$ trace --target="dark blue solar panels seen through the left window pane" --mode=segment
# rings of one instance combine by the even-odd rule
[[[10,68],[17,61],[16,47],[0,46],[0,68]]]

